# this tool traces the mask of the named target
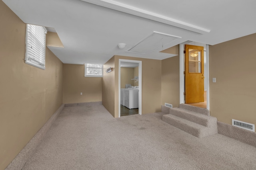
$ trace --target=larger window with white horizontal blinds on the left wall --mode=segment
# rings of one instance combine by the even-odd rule
[[[32,24],[27,24],[26,25],[26,54],[25,54],[25,63],[26,64],[29,64],[29,65],[32,65],[32,66],[35,66],[37,68],[40,68],[42,70],[45,70],[45,49],[46,49],[46,33],[47,33],[47,30],[45,27],[42,27],[42,26],[38,26],[38,25],[33,25],[30,27],[30,29],[32,29],[32,27],[36,26],[36,27],[41,27],[41,29],[43,29],[44,31],[40,31],[40,34],[42,34],[42,32],[44,33],[44,35],[37,35],[36,33],[28,33],[28,29],[29,29],[29,26],[32,25]],[[42,51],[42,53],[40,54],[40,56],[38,57],[34,57],[34,59],[31,56],[31,52],[29,52],[28,48],[32,45],[32,42],[29,42],[28,39],[30,39],[30,41],[33,41],[32,39],[34,37],[36,39],[43,39],[43,43],[44,45],[42,45],[42,43],[40,43],[37,47],[40,47]],[[40,37],[39,37],[40,36]],[[38,40],[39,41],[39,40]],[[35,41],[34,41],[35,42]],[[32,47],[32,46],[31,46]],[[34,46],[33,46],[34,47]],[[35,54],[33,54],[35,55]],[[43,56],[43,57],[42,57]],[[37,59],[36,59],[37,58]],[[44,62],[42,63],[40,60],[43,60]]]

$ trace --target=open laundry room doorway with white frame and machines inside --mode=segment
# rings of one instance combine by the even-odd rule
[[[119,59],[118,115],[142,114],[142,61]]]

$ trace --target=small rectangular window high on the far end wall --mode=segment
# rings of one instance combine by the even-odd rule
[[[103,64],[84,64],[85,77],[102,77]]]

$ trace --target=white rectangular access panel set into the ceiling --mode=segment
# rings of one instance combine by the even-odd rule
[[[146,36],[144,39],[139,41],[136,45],[134,45],[132,48],[128,49],[126,52],[146,54],[146,53],[153,51],[159,47],[163,47],[164,45],[166,45],[178,38],[181,38],[181,37],[153,31],[153,33]],[[160,49],[159,51],[162,51],[162,50],[163,49]]]

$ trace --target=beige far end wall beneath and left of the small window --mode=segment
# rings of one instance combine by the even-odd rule
[[[102,101],[102,77],[84,77],[84,64],[64,64],[63,103],[100,101]]]

